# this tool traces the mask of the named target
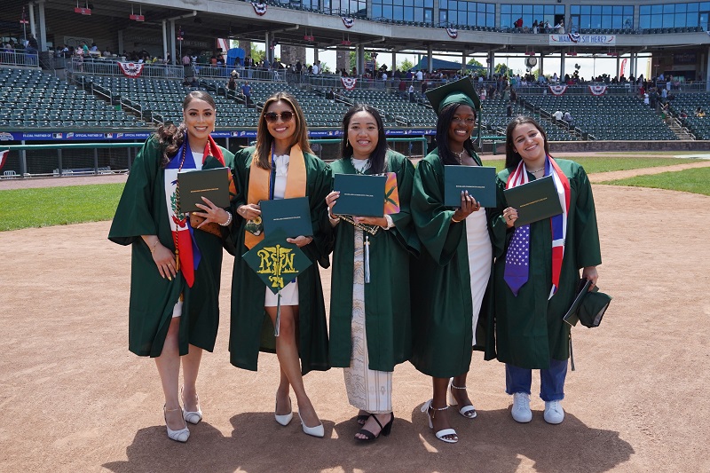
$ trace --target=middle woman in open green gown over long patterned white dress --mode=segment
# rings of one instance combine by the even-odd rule
[[[414,166],[387,147],[375,108],[353,106],[343,117],[342,158],[334,174],[394,173],[399,209],[384,217],[337,217],[334,191],[326,198],[335,233],[330,298],[330,360],[344,367],[345,387],[359,408],[359,440],[389,435],[392,371],[412,354],[409,253],[419,244],[409,213]],[[355,226],[357,224],[358,226]]]

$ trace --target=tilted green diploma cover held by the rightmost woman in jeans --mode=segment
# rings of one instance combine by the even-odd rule
[[[503,191],[509,207],[517,210],[516,227],[562,213],[552,176],[535,179]]]

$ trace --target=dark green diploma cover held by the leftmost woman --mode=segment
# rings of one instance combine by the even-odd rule
[[[180,190],[180,211],[201,212],[195,206],[197,203],[205,205],[202,197],[217,207],[229,207],[229,173],[228,168],[201,169],[177,173],[177,185]]]

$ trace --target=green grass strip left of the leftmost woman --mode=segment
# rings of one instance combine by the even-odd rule
[[[0,232],[114,217],[123,184],[0,191]]]

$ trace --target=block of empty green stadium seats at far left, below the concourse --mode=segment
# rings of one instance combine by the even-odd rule
[[[0,69],[0,127],[145,126],[106,102],[36,70]]]

